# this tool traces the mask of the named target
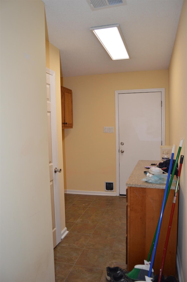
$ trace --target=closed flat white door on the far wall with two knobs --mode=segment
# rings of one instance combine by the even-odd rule
[[[138,160],[160,160],[160,146],[165,144],[163,92],[117,93],[120,195],[126,195],[126,182]]]

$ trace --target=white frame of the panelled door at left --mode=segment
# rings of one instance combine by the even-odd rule
[[[46,68],[46,73],[51,75],[51,138],[53,165],[58,168],[58,144],[57,144],[57,122],[56,122],[56,88],[55,88],[55,71]],[[54,171],[53,171],[54,173]],[[54,202],[55,202],[55,221],[56,221],[56,242],[61,241],[61,224],[60,224],[60,194],[58,173],[54,179]]]

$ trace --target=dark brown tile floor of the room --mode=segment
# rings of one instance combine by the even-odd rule
[[[65,210],[56,282],[106,282],[107,266],[126,269],[126,197],[65,194]]]

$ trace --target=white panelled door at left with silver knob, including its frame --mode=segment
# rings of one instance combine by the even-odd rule
[[[47,119],[48,119],[48,140],[49,140],[49,174],[51,189],[51,211],[53,228],[53,247],[56,247],[61,240],[60,227],[60,198],[58,172],[58,150],[57,150],[57,129],[56,129],[56,93],[55,73],[48,70],[46,73],[47,88]]]

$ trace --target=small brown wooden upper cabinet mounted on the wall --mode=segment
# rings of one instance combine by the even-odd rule
[[[72,90],[61,86],[62,129],[73,128]]]

